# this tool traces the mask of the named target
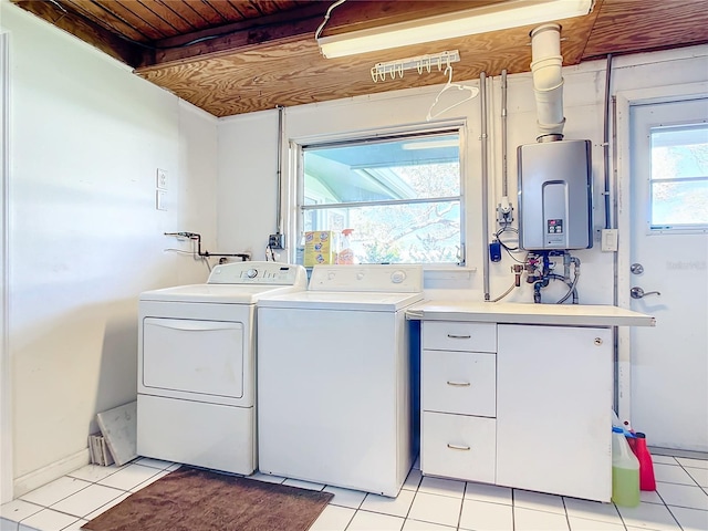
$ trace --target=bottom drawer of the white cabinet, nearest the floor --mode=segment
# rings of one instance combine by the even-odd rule
[[[423,413],[420,470],[425,475],[494,482],[493,418]]]

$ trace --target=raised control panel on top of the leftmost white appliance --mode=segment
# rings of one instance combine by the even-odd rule
[[[233,262],[216,266],[208,284],[306,284],[308,273],[302,266],[280,262]]]

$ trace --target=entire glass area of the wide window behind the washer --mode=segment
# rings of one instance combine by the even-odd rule
[[[304,147],[302,231],[351,229],[355,263],[460,262],[459,150],[449,131]]]

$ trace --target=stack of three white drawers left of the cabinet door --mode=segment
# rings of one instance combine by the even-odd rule
[[[494,482],[497,325],[424,322],[424,473]]]

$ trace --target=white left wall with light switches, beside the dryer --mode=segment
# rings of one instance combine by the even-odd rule
[[[86,459],[95,414],[136,397],[140,291],[208,270],[217,121],[2,2],[10,34],[9,351],[15,496]],[[167,211],[155,208],[168,170]]]

